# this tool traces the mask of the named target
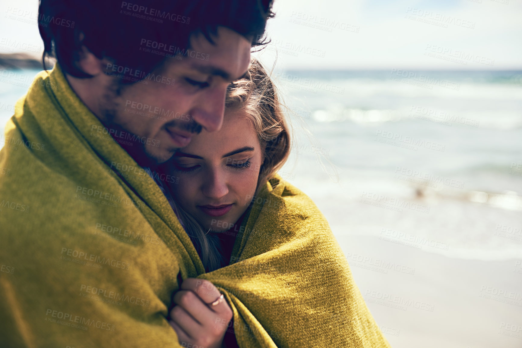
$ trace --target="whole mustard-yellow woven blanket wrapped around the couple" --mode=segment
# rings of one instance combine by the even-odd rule
[[[298,189],[267,182],[230,265],[205,273],[159,186],[118,143],[129,140],[58,65],[17,102],[0,139],[0,346],[178,347],[165,317],[189,277],[224,293],[240,347],[389,346]]]

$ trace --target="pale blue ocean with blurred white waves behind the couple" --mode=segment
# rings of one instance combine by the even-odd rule
[[[2,134],[37,72],[0,70]],[[451,258],[522,258],[522,71],[272,76],[293,132],[280,174],[336,236]]]

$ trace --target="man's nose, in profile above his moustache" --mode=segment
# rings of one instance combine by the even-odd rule
[[[194,121],[209,132],[221,129],[226,97],[226,85],[212,87],[206,93],[201,94],[196,101],[197,105],[191,112]]]

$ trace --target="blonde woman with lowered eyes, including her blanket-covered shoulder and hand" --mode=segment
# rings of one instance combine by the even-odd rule
[[[180,342],[197,344],[196,336],[205,336],[207,346],[219,347],[224,329],[233,326],[240,346],[387,346],[322,214],[275,174],[289,145],[277,92],[253,59],[246,76],[229,87],[222,128],[195,136],[165,165],[180,178],[169,187],[171,205],[209,272],[198,278],[220,287],[228,302],[219,316],[208,301],[177,293],[171,325]],[[279,313],[267,312],[270,307]],[[196,319],[207,317],[220,325]],[[306,334],[287,325],[294,319]],[[323,331],[332,323],[337,330]]]

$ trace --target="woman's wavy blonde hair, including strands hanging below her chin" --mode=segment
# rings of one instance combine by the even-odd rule
[[[256,195],[268,179],[283,166],[290,154],[290,129],[283,104],[263,65],[252,58],[243,78],[228,87],[225,112],[244,112],[257,133],[263,150]],[[175,197],[174,197],[175,200]],[[219,250],[219,233],[205,232],[196,219],[174,202],[177,218],[191,237],[205,270],[210,272],[228,264]]]

